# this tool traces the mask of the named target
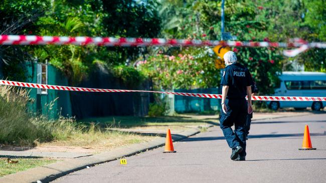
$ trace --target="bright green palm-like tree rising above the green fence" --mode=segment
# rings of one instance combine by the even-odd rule
[[[51,1],[48,10],[36,22],[39,35],[93,36],[102,31],[101,1],[83,0]],[[100,48],[88,45],[41,45],[31,46],[31,54],[39,61],[48,61],[62,70],[70,83],[80,81],[95,59],[90,55]]]

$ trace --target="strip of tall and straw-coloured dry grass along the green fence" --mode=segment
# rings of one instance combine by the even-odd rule
[[[154,138],[109,131],[95,123],[79,123],[74,118],[48,120],[44,116],[33,116],[27,110],[30,100],[26,89],[0,85],[0,144],[29,147],[60,144],[112,149]]]

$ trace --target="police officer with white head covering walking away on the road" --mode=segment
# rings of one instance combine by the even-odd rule
[[[226,52],[223,57],[227,66],[221,79],[223,87],[220,127],[229,147],[232,148],[231,159],[245,160],[245,122],[247,114],[253,111],[251,104],[253,81],[248,68],[236,62],[237,56],[233,51]],[[246,95],[248,95],[248,102]],[[233,124],[235,132],[231,128]]]

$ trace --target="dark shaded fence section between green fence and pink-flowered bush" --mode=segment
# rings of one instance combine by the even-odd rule
[[[150,90],[150,85],[150,82],[145,80],[137,88],[128,88],[120,79],[99,68],[78,84],[79,87],[143,90]],[[72,115],[77,119],[108,115],[144,116],[148,113],[150,93],[70,91],[70,99]]]

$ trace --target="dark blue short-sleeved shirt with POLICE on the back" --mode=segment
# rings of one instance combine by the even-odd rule
[[[225,67],[221,85],[229,86],[227,99],[244,98],[247,95],[247,86],[253,84],[247,67],[240,63],[233,63]]]

